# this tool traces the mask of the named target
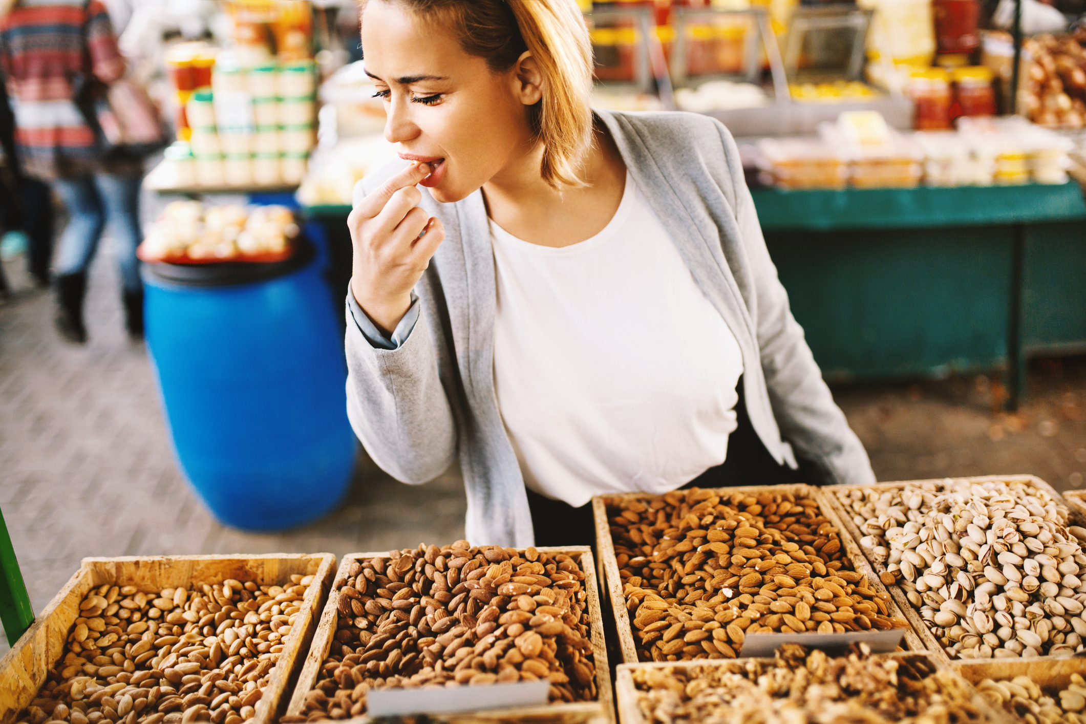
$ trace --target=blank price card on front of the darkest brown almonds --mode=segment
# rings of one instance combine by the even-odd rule
[[[370,689],[366,694],[366,712],[370,716],[406,716],[539,707],[547,702],[550,690],[551,682],[545,679],[433,689]]]

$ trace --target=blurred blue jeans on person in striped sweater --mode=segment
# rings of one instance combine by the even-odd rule
[[[117,243],[121,283],[126,293],[142,291],[136,247],[143,238],[139,226],[139,176],[96,174],[62,178],[53,185],[68,212],[68,225],[56,253],[56,274],[87,271],[102,230],[109,221]]]

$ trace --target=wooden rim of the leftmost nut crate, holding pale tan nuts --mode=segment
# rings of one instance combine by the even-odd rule
[[[34,624],[0,660],[0,724],[11,724],[35,698],[49,669],[60,660],[68,631],[79,617],[79,602],[103,584],[136,586],[144,593],[188,586],[192,582],[220,583],[227,579],[277,585],[294,573],[315,576],[305,595],[295,636],[272,670],[256,716],[249,724],[272,724],[281,714],[288,687],[307,650],[317,615],[331,586],[336,556],[331,554],[268,556],[156,556],[84,558],[83,566],[41,611]]]

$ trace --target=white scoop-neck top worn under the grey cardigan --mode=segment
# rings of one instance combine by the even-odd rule
[[[671,491],[724,461],[742,353],[629,174],[586,241],[490,229],[494,384],[530,490],[579,507]]]

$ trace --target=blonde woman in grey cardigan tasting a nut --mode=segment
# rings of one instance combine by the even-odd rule
[[[362,17],[403,158],[349,218],[348,412],[379,466],[458,456],[468,538],[518,547],[590,543],[596,494],[797,480],[793,450],[874,482],[722,125],[593,114],[574,0]]]

